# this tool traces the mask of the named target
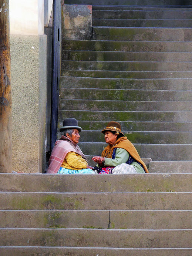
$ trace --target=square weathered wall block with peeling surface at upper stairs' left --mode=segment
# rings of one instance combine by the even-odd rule
[[[89,40],[92,35],[92,6],[63,4],[63,38]]]

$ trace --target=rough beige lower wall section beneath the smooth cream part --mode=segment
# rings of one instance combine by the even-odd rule
[[[46,36],[10,36],[13,170],[45,168]]]

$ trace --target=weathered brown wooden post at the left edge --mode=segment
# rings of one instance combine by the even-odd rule
[[[9,0],[0,0],[0,172],[12,172]]]

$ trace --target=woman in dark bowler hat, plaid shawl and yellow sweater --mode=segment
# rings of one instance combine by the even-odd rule
[[[63,121],[61,138],[55,142],[48,162],[47,174],[95,174],[87,165],[87,159],[82,153],[79,142],[81,127],[75,118]]]

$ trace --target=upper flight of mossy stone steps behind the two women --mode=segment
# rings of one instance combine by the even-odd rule
[[[93,5],[93,40],[63,40],[58,127],[77,118],[82,151],[100,155],[101,129],[118,121],[153,160],[150,172],[191,172],[192,6],[155,2]],[[161,6],[168,3],[175,6]]]

